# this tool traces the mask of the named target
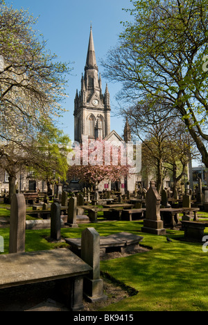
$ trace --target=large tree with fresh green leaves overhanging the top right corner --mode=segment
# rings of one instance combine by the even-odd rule
[[[119,97],[128,101],[168,101],[208,167],[208,1],[130,1],[133,21],[108,53],[105,76],[123,83]]]

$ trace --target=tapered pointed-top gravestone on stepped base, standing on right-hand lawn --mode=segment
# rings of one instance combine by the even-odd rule
[[[150,188],[146,193],[146,219],[141,231],[155,235],[165,235],[163,221],[160,217],[160,196],[155,188],[155,182],[150,182]]]

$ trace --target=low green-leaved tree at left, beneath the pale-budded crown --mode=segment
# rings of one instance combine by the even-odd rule
[[[42,122],[43,123],[43,122]],[[48,188],[54,180],[66,180],[67,155],[71,151],[70,140],[49,120],[44,121],[44,130],[37,133],[33,142],[24,146],[4,142],[0,147],[0,167],[9,174],[9,199],[16,191],[18,172],[32,169],[35,178],[46,181]]]

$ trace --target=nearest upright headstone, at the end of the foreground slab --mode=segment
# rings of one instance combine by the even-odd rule
[[[85,297],[90,302],[106,299],[100,278],[100,235],[94,228],[87,228],[82,233],[81,258],[92,267],[89,276],[84,278]]]

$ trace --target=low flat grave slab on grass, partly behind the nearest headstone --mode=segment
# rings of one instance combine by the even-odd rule
[[[100,238],[100,253],[104,256],[105,253],[112,251],[130,251],[139,248],[139,242],[143,237],[134,235],[132,233],[114,233],[107,237],[101,236]],[[71,250],[80,256],[81,251],[81,238],[65,238],[67,244],[71,246]]]

